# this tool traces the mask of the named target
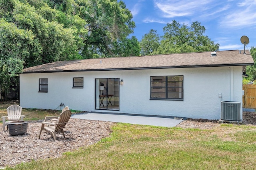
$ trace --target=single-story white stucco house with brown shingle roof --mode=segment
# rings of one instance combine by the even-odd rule
[[[220,119],[221,101],[242,103],[253,64],[239,50],[57,61],[24,69],[20,105]]]

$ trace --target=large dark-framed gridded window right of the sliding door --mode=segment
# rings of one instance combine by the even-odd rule
[[[183,100],[183,76],[151,76],[150,99]]]

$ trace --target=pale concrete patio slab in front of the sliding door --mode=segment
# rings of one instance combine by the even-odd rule
[[[134,115],[122,113],[103,113],[103,112],[86,112],[72,114],[74,119],[87,119],[96,121],[109,121],[118,123],[131,123],[138,125],[152,125],[159,127],[174,127],[186,120],[181,117],[154,116],[154,115]],[[181,120],[182,119],[182,120]]]

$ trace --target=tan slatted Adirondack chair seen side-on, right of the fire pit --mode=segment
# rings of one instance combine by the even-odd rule
[[[71,117],[71,111],[66,110],[60,114],[58,121],[56,121],[54,123],[42,122],[42,127],[41,127],[40,133],[39,133],[39,139],[40,139],[42,130],[45,130],[46,134],[50,133],[51,136],[53,136],[54,140],[56,140],[56,132],[62,132],[63,137],[65,138],[63,128],[68,123],[70,117]],[[53,126],[47,126],[47,125],[53,125]]]

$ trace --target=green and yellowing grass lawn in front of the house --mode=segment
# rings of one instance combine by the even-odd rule
[[[53,112],[24,111],[30,120]],[[96,144],[66,152],[60,158],[31,161],[6,169],[255,170],[256,126],[220,124],[211,130],[200,130],[118,123],[112,127],[110,137]]]

